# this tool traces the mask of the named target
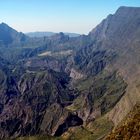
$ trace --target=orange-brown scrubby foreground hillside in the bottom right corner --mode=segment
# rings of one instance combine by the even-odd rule
[[[113,129],[106,140],[140,139],[140,105],[136,104],[131,112]]]

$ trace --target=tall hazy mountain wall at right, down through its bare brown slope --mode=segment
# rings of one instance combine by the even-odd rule
[[[140,99],[139,88],[137,86],[139,85],[138,77],[140,76],[139,19],[140,8],[120,7],[114,15],[109,15],[107,19],[103,20],[101,24],[89,33],[89,37],[94,43],[92,47],[84,48],[83,53],[81,53],[83,55],[81,58],[85,57],[85,60],[91,55],[91,53],[85,55],[85,52],[93,52],[97,49],[106,52],[110,51],[109,55],[112,54],[112,56],[109,61],[103,64],[106,65],[106,69],[109,71],[117,70],[128,84],[126,94],[122,97],[121,101],[118,102],[116,107],[108,113],[109,118],[115,125],[126,116]],[[103,58],[107,57],[103,56]],[[90,62],[90,59],[87,63]],[[105,61],[106,59],[103,60]]]

